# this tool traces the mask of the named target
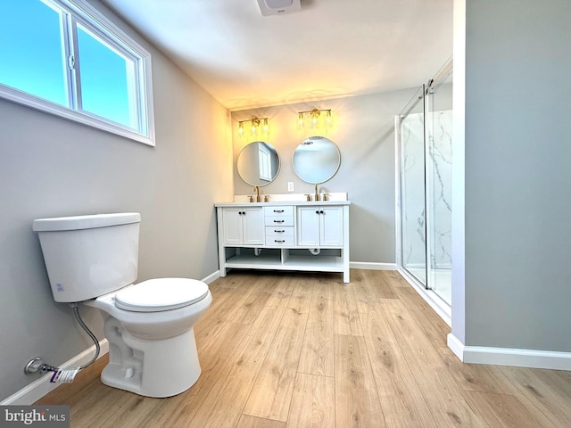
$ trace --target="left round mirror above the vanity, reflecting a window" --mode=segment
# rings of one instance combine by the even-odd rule
[[[279,156],[271,144],[254,141],[238,155],[237,169],[249,185],[269,185],[279,172]]]

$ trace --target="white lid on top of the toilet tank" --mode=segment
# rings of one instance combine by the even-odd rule
[[[113,214],[93,214],[88,216],[72,216],[59,218],[38,218],[34,220],[32,229],[36,232],[54,232],[59,230],[93,229],[95,227],[120,226],[140,223],[138,212],[120,212]]]

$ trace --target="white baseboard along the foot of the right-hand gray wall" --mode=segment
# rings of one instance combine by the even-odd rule
[[[571,371],[571,352],[466,346],[452,333],[448,347],[464,363]]]

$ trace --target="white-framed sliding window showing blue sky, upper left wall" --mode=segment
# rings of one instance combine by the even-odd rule
[[[151,55],[85,0],[0,1],[0,64],[0,96],[154,145]]]

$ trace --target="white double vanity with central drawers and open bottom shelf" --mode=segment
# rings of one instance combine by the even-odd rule
[[[219,269],[341,272],[349,282],[349,201],[216,204]]]

